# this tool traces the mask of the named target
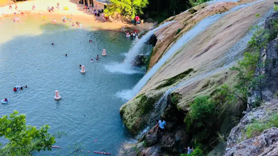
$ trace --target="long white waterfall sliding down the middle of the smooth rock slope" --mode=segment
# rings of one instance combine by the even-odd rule
[[[234,12],[236,10],[239,10],[241,8],[245,8],[251,5],[254,5],[256,3],[261,2],[257,1],[254,3],[248,3],[244,5],[237,6],[233,9],[231,9],[228,12],[225,12],[223,14],[216,14],[209,16],[205,19],[203,19],[200,23],[198,23],[194,28],[186,32],[160,59],[159,61],[153,65],[153,67],[142,77],[142,79],[136,84],[136,86],[132,90],[122,91],[117,93],[119,97],[125,100],[130,100],[132,97],[134,97],[141,89],[144,87],[144,85],[147,83],[147,81],[150,79],[150,77],[178,50],[180,49],[184,44],[186,44],[189,40],[191,40],[193,37],[195,37],[200,32],[204,31],[206,27],[217,21],[220,17],[223,17],[227,15],[230,12]]]

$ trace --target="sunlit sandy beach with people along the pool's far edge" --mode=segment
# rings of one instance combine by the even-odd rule
[[[57,8],[57,3],[60,5],[60,9]],[[12,17],[21,17],[18,11],[22,11],[26,16],[41,16],[45,17],[45,22],[50,22],[51,20],[57,20],[57,24],[64,24],[71,26],[72,23],[80,22],[81,24],[86,24],[86,28],[96,28],[104,30],[121,30],[122,27],[142,31],[153,26],[153,23],[144,23],[137,24],[136,26],[131,24],[128,19],[113,22],[104,22],[103,14],[100,17],[93,15],[93,8],[83,11],[83,5],[78,4],[74,0],[35,0],[35,1],[25,1],[17,3],[18,9],[15,10],[15,3],[11,1],[12,10],[9,9],[9,6],[4,6],[0,8],[0,17],[12,16]],[[32,6],[35,5],[36,10],[32,10]],[[48,12],[47,7],[54,7],[54,12]],[[68,7],[69,10],[63,10],[64,7]],[[42,12],[42,14],[40,14]],[[16,13],[16,14],[15,14]],[[72,22],[68,21],[63,23],[62,17],[66,16],[67,18],[72,17]]]

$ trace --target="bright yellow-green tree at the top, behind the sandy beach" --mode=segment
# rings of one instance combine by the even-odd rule
[[[112,5],[105,9],[104,13],[112,16],[120,14],[132,19],[137,15],[142,15],[142,9],[149,4],[148,0],[110,0],[110,2]]]

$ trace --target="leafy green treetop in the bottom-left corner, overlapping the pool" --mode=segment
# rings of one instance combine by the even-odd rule
[[[55,143],[55,136],[61,137],[64,133],[51,135],[47,132],[50,127],[43,125],[40,129],[27,126],[25,115],[18,115],[17,111],[0,118],[0,136],[9,140],[1,146],[0,155],[33,155],[32,152],[51,150]]]

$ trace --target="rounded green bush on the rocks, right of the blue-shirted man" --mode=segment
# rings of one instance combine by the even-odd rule
[[[194,99],[189,105],[190,111],[186,115],[184,122],[187,129],[193,127],[206,127],[211,126],[211,118],[215,115],[215,104],[208,96],[200,96]]]

